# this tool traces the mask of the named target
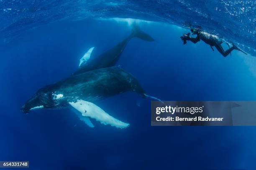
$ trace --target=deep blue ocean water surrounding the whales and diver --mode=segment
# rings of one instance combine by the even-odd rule
[[[133,38],[117,65],[149,95],[256,100],[255,1],[0,3],[0,160],[29,160],[36,170],[256,168],[255,127],[151,127],[150,99],[134,92],[96,102],[130,123],[126,129],[96,121],[89,128],[68,109],[20,112],[39,88],[71,75],[90,47],[100,55],[127,37],[134,22],[155,41]],[[188,25],[249,54],[223,57],[203,42],[183,45],[179,37]]]

